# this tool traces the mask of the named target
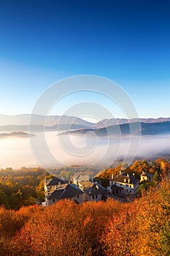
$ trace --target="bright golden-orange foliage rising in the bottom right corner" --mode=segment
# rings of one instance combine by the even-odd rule
[[[170,186],[163,182],[109,222],[102,241],[105,255],[169,256]]]

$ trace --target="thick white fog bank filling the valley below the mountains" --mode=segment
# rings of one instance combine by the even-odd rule
[[[109,167],[117,159],[132,162],[134,157],[161,157],[170,152],[170,135],[142,136],[140,141],[137,137],[107,140],[90,135],[58,136],[56,132],[35,135],[31,138],[1,138],[0,168]]]

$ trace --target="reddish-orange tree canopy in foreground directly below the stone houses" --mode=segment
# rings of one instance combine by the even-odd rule
[[[65,200],[44,208],[13,238],[12,255],[102,255],[102,230],[119,208],[113,200],[82,206]]]

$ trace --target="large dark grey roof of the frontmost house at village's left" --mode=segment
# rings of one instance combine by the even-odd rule
[[[74,184],[63,184],[61,187],[56,189],[51,195],[47,196],[47,199],[66,199],[70,197],[75,197],[76,195],[82,195],[84,192],[82,189]]]

